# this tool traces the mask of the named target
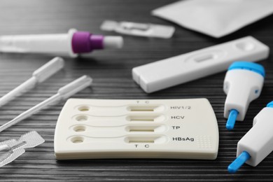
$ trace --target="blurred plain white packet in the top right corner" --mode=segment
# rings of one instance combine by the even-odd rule
[[[272,13],[272,0],[186,0],[152,11],[152,15],[216,38]]]

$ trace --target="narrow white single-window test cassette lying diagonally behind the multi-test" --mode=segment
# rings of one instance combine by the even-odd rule
[[[267,58],[269,47],[252,36],[188,52],[132,69],[133,79],[145,92],[186,83],[225,71],[235,61],[256,62]]]

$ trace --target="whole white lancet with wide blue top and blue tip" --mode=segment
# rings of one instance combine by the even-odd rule
[[[244,120],[250,102],[257,99],[265,80],[265,69],[253,62],[234,62],[225,75],[223,90],[225,99],[224,117],[226,127],[232,130],[236,120]]]

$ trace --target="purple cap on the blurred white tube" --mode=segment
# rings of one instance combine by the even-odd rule
[[[88,31],[76,31],[72,36],[72,50],[74,53],[87,53],[94,49],[104,48],[104,36],[92,35]]]

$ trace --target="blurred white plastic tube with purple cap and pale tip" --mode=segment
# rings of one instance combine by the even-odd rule
[[[122,36],[102,36],[70,29],[67,34],[0,36],[0,52],[46,53],[76,57],[80,53],[122,48]]]

